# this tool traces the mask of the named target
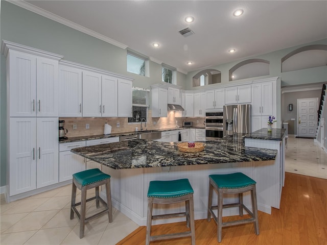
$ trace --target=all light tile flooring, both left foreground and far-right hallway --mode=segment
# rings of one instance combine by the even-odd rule
[[[313,139],[288,138],[286,171],[327,179],[327,154]],[[78,190],[77,198],[80,198]],[[90,197],[91,190],[88,191]],[[78,200],[78,199],[77,199]],[[79,238],[77,217],[69,219],[71,185],[6,203],[1,195],[1,245],[7,244],[115,244],[138,226],[113,208],[113,222],[107,215],[90,220],[85,236]],[[87,203],[87,213],[95,211],[95,201]],[[76,216],[76,215],[75,215]]]

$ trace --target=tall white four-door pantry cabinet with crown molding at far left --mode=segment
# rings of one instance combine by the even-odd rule
[[[58,183],[58,61],[4,41],[7,59],[7,197]]]

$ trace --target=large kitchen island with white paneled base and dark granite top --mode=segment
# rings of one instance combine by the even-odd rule
[[[254,179],[259,187],[267,181],[267,175],[262,175],[257,168],[278,164],[276,150],[245,147],[243,137],[226,137],[205,143],[204,151],[199,153],[180,152],[176,143],[141,139],[87,146],[73,149],[72,152],[98,162],[102,171],[111,175],[113,206],[138,225],[144,226],[147,219],[147,190],[152,180],[188,178],[194,189],[195,218],[203,219],[207,214],[208,175],[240,171]],[[273,176],[270,178],[274,181]],[[258,209],[271,213],[273,205],[267,200],[270,200],[272,193],[258,187]],[[231,203],[235,199],[236,195],[231,195],[225,200]],[[251,209],[249,194],[244,195],[244,203]],[[175,204],[169,211],[181,212],[183,208],[183,205]],[[160,214],[167,210],[157,206],[154,212]],[[237,213],[237,208],[231,208],[225,209],[223,215]],[[154,224],[181,220],[156,220]]]

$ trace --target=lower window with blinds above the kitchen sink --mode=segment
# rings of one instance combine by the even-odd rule
[[[132,96],[132,117],[128,117],[128,122],[147,122],[150,90],[133,87]]]

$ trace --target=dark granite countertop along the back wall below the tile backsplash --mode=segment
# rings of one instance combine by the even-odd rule
[[[140,134],[142,132],[148,132],[148,131],[159,131],[159,132],[164,132],[164,131],[171,131],[171,130],[181,130],[181,129],[205,129],[204,127],[185,127],[185,128],[171,128],[171,129],[155,129],[155,130],[146,130],[146,131],[138,131],[138,132],[124,132],[124,133],[115,133],[115,134],[99,134],[99,135],[86,135],[86,136],[78,136],[78,137],[69,137],[66,140],[60,140],[59,143],[68,143],[68,142],[76,142],[76,141],[85,141],[85,140],[92,140],[92,139],[106,139],[110,137],[120,137],[120,136],[126,136],[126,135],[134,135],[134,134]]]

